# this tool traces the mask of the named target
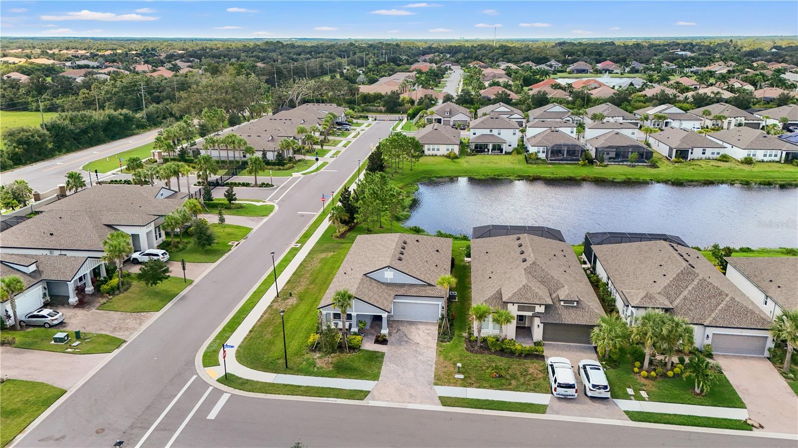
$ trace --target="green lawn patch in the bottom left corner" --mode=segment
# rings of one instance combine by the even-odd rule
[[[22,379],[9,379],[0,384],[0,446],[6,446],[17,437],[65,392],[47,383]]]

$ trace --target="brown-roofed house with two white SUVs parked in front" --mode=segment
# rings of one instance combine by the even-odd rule
[[[474,229],[472,304],[511,312],[516,319],[504,328],[508,338],[591,344],[590,332],[604,312],[559,230],[529,226],[503,236],[478,234],[490,232]],[[482,322],[483,335],[499,330],[492,316]]]

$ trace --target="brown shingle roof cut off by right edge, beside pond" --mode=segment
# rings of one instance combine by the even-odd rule
[[[798,308],[798,257],[726,257],[785,309]]]

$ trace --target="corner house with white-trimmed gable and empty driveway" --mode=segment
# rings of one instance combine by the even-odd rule
[[[355,238],[349,253],[322,297],[322,320],[341,327],[341,310],[333,305],[336,292],[354,296],[346,310],[353,331],[365,328],[388,334],[388,320],[437,322],[444,310],[446,291],[438,278],[452,266],[452,240],[413,234],[371,234]]]

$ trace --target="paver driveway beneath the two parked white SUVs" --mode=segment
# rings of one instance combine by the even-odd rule
[[[559,344],[547,342],[546,360],[552,356],[560,356],[571,361],[576,377],[576,386],[579,387],[579,395],[575,399],[560,399],[551,397],[546,414],[555,415],[575,415],[578,417],[595,417],[598,419],[628,420],[621,408],[612,399],[591,399],[585,395],[585,388],[582,379],[576,369],[581,360],[595,360],[596,354],[590,345],[579,344]]]

